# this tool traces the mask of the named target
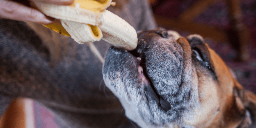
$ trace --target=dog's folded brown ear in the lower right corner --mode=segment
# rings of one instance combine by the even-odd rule
[[[225,128],[255,128],[253,118],[256,114],[256,96],[252,92],[247,92],[233,78],[233,95],[226,100],[224,108],[224,125]]]

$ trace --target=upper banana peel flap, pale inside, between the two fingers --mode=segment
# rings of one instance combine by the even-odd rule
[[[102,17],[100,11],[110,6],[111,0],[74,0],[69,6],[45,4],[38,1],[34,3],[47,16],[98,26]]]

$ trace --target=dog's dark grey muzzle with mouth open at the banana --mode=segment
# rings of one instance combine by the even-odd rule
[[[138,33],[138,46],[135,50],[126,51],[115,47],[108,50],[103,76],[107,77],[105,74],[109,74],[110,80],[121,79],[125,84],[121,90],[117,88],[119,85],[107,85],[110,89],[113,88],[112,92],[125,91],[125,94],[120,95],[128,95],[131,98],[130,95],[137,90],[137,95],[144,95],[146,99],[155,100],[158,106],[165,111],[171,108],[170,102],[178,102],[171,101],[171,99],[179,93],[179,90],[174,89],[175,93],[170,95],[169,86],[182,84],[183,50],[175,40],[168,40],[167,36],[167,32],[161,29],[140,32]],[[119,75],[113,76],[116,73]],[[106,82],[105,78],[104,80]],[[111,83],[109,81],[107,84]],[[129,92],[130,85],[136,87],[132,88],[131,92]]]

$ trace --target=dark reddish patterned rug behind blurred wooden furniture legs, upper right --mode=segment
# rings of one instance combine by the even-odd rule
[[[158,4],[153,5],[153,10],[157,15],[177,18],[181,12],[185,11],[197,1],[198,0],[158,0]],[[245,89],[256,93],[256,0],[241,0],[241,10],[244,17],[243,21],[246,27],[249,28],[251,37],[249,43],[249,61],[238,62],[236,60],[237,51],[226,42],[214,41],[211,38],[205,38],[205,42],[234,70],[238,82],[242,84]],[[224,29],[230,27],[228,9],[223,1],[219,1],[210,6],[194,21]],[[186,31],[177,31],[181,36],[193,34]]]

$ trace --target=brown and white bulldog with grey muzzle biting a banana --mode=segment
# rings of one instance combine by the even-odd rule
[[[199,35],[138,32],[135,50],[108,49],[103,79],[142,128],[256,127],[256,96]]]

